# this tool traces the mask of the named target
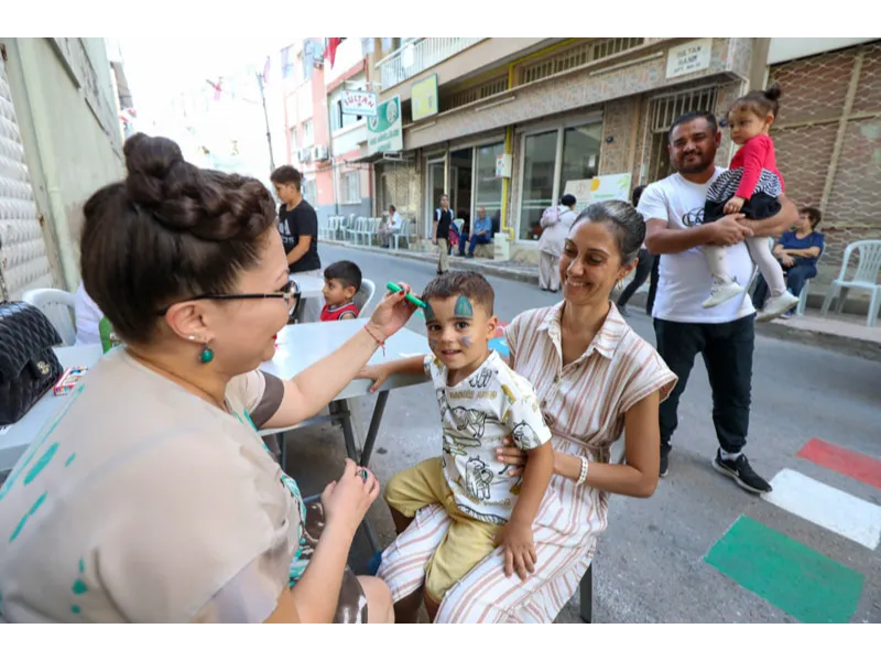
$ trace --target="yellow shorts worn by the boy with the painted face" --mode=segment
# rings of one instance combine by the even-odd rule
[[[439,502],[452,519],[446,537],[425,563],[425,592],[435,604],[496,549],[496,535],[502,529],[459,511],[440,457],[426,459],[392,477],[385,486],[385,502],[409,519],[422,508]]]

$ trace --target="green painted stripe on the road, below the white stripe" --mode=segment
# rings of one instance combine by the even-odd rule
[[[704,561],[806,625],[845,625],[863,576],[749,517],[740,517]]]

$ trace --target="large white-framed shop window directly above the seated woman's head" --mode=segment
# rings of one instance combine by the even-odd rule
[[[566,184],[597,176],[602,123],[592,122],[523,137],[520,239],[539,238],[542,213],[563,196]],[[586,199],[577,204],[584,208]]]

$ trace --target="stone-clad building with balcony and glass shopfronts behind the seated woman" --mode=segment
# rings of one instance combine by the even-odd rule
[[[442,193],[457,216],[483,207],[510,258],[537,259],[542,212],[670,173],[664,137],[684,111],[721,110],[750,85],[754,39],[444,36],[374,54],[380,102],[399,98],[398,153],[366,150],[378,204],[427,238]],[[414,113],[414,108],[416,112]],[[732,155],[729,141],[720,164]],[[601,189],[591,191],[594,177]]]

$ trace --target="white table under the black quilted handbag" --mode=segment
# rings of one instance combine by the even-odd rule
[[[56,347],[62,367],[93,367],[104,355],[101,345]],[[42,397],[19,422],[0,426],[0,473],[10,470],[24,454],[47,420],[67,403],[67,395],[55,397],[52,390]]]

